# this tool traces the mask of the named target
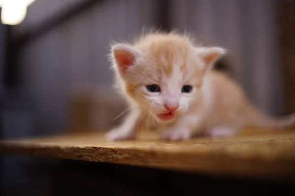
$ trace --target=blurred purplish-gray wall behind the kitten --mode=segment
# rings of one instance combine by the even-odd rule
[[[79,0],[36,0],[16,35],[32,29]],[[81,88],[111,86],[108,44],[129,39],[154,23],[156,0],[105,0],[38,37],[19,63],[38,131],[67,127],[67,101]],[[274,0],[172,0],[171,25],[198,40],[230,50],[236,80],[270,114],[281,114],[280,70]]]

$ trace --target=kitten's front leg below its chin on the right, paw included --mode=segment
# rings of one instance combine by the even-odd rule
[[[172,127],[164,130],[160,139],[170,141],[189,140],[198,133],[201,122],[202,118],[196,115],[182,117]]]

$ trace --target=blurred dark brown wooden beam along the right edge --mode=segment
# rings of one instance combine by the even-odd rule
[[[285,113],[295,112],[295,0],[278,1],[278,25]]]

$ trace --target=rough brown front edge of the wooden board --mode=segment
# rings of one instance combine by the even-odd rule
[[[16,144],[2,144],[0,153],[108,162],[208,174],[295,177],[295,162],[292,160],[245,160],[223,155],[179,155],[177,153],[116,147],[40,147],[39,145],[17,146]]]

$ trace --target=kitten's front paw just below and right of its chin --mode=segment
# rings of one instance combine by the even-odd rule
[[[188,128],[171,128],[162,132],[160,139],[168,141],[186,141],[192,138]]]

